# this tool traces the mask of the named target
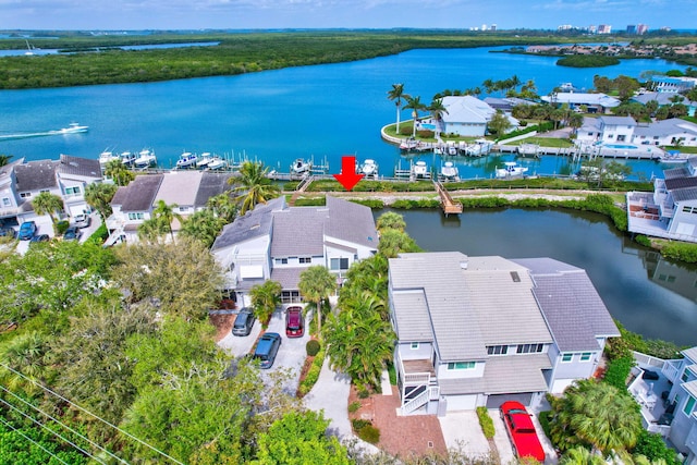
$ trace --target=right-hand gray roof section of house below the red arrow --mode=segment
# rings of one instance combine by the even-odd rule
[[[342,198],[327,196],[329,223],[325,234],[370,248],[378,248],[378,232],[370,208]]]

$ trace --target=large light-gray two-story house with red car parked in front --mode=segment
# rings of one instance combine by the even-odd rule
[[[400,254],[389,278],[403,415],[536,406],[620,335],[586,272],[550,258]]]

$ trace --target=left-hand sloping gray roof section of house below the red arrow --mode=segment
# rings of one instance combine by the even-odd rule
[[[268,235],[271,233],[274,210],[285,208],[285,197],[274,198],[266,204],[259,204],[254,210],[235,218],[227,224],[220,235],[213,242],[211,250],[225,248],[254,237]]]

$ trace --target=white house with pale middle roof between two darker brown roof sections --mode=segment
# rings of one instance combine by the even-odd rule
[[[230,189],[229,173],[170,171],[161,174],[139,174],[127,186],[121,186],[111,200],[112,215],[107,219],[107,244],[138,241],[138,227],[152,218],[159,203],[176,205],[174,212],[186,218],[206,207],[212,196]],[[174,234],[179,221],[173,221]]]

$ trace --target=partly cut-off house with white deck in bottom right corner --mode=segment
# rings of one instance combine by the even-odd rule
[[[669,440],[681,463],[697,465],[697,347],[681,355],[664,360],[634,353],[638,368],[628,391],[641,406],[644,427]]]

